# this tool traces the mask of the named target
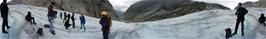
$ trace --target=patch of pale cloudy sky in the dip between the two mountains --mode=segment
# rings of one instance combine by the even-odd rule
[[[114,6],[115,10],[119,10],[125,12],[130,5],[141,1],[141,0],[109,0],[111,4]]]

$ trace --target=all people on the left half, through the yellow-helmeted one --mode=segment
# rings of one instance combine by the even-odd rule
[[[54,6],[55,6],[55,3],[51,2],[50,6],[48,7],[48,14],[47,14],[48,21],[50,23],[48,25],[48,27],[49,27],[49,31],[52,34],[55,34],[55,31],[53,30],[53,26],[54,26],[53,23],[54,23],[54,19],[56,18],[56,15],[57,15],[57,11],[53,10]],[[10,28],[10,26],[8,25],[8,10],[9,10],[9,8],[7,6],[7,0],[3,0],[3,2],[0,5],[0,10],[1,10],[1,17],[3,18],[2,33],[7,34],[8,31],[6,30],[6,28],[7,29]],[[32,23],[32,24],[36,24],[35,19],[31,14],[32,14],[31,11],[28,11],[28,14],[25,17],[25,20]],[[111,17],[108,16],[107,10],[103,10],[100,15],[102,17],[101,20],[99,21],[99,23],[102,25],[101,31],[103,31],[104,39],[108,39],[112,20],[111,20]],[[62,14],[60,14],[60,17],[62,19]],[[64,26],[66,26],[66,29],[68,29],[68,27],[71,25],[71,24],[69,24],[70,19],[73,23],[72,27],[75,28],[75,14],[72,13],[72,16],[70,17],[70,14],[67,14],[65,12],[63,22],[65,23]],[[85,28],[84,24],[86,24],[86,21],[85,21],[84,15],[81,14],[79,19],[81,22],[80,29],[84,28],[84,31],[85,31],[86,28]]]

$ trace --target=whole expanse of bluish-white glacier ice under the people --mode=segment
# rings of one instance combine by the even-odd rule
[[[49,24],[46,16],[47,8],[29,5],[10,5],[9,8],[9,25],[12,28],[9,29],[9,34],[0,33],[0,39],[102,39],[98,18],[85,16],[87,29],[83,31],[79,29],[80,15],[75,14],[77,28],[73,29],[70,26],[70,29],[66,30],[58,13],[54,26],[56,35],[52,35],[48,28],[43,27],[44,24]],[[239,28],[238,34],[229,39],[266,38],[266,27],[257,22],[260,13],[265,14],[266,9],[248,8],[248,10],[245,36],[241,36]],[[32,12],[37,25],[24,20],[28,11]],[[109,37],[110,39],[225,39],[224,29],[231,28],[234,32],[236,23],[234,12],[233,10],[205,10],[159,21],[138,23],[113,21]],[[72,21],[70,23],[72,24]],[[37,28],[44,29],[44,36],[36,34]]]

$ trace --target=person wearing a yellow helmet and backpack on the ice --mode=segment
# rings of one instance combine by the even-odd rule
[[[100,24],[102,25],[102,31],[103,31],[103,38],[104,39],[108,39],[108,35],[110,32],[110,27],[112,25],[112,20],[111,17],[108,16],[108,13],[106,10],[101,12],[101,20],[100,20]]]

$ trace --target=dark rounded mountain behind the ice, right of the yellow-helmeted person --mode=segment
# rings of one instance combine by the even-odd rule
[[[155,21],[212,9],[229,8],[192,0],[143,0],[131,5],[122,19],[128,22]]]

